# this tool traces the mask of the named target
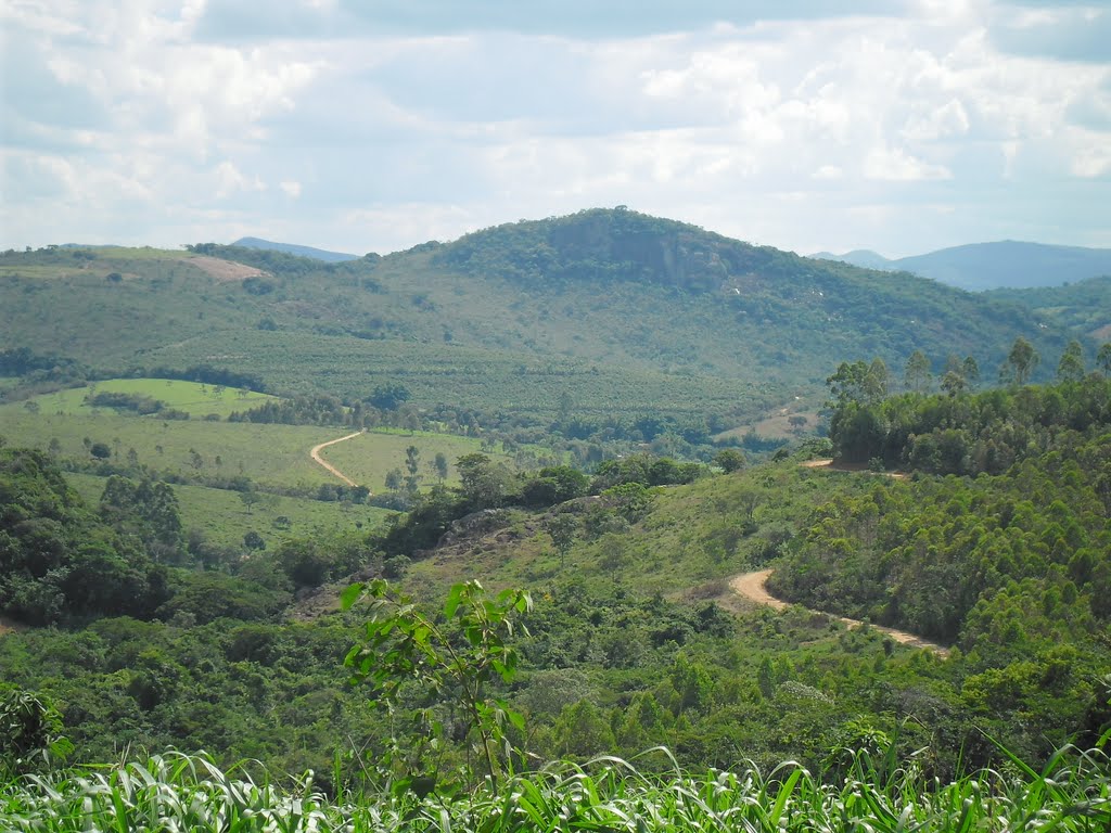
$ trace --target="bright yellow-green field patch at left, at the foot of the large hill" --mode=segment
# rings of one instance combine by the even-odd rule
[[[47,414],[90,414],[96,411],[111,413],[111,409],[96,409],[86,404],[86,397],[96,393],[129,393],[149,397],[164,402],[168,408],[184,411],[194,419],[209,414],[223,418],[233,411],[246,411],[269,399],[274,399],[266,393],[256,393],[254,391],[241,392],[234,388],[218,388],[172,379],[108,379],[86,388],[72,388],[34,397],[31,401],[39,407],[40,413]],[[26,404],[23,407],[26,408]]]

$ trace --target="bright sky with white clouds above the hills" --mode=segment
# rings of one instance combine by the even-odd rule
[[[0,0],[0,249],[1111,248],[1111,1]]]

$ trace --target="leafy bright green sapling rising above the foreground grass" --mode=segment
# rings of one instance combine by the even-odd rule
[[[406,711],[423,735],[418,747],[429,753],[438,753],[446,736],[440,706],[460,709],[462,731],[453,734],[478,735],[478,753],[497,782],[502,770],[499,746],[511,769],[507,723],[523,731],[524,719],[492,696],[489,683],[496,675],[504,683],[516,676],[518,653],[506,640],[513,635],[517,618],[532,609],[532,599],[523,590],[489,596],[479,582],[469,581],[451,588],[442,616],[433,618],[379,579],[349,586],[341,596],[343,610],[360,600],[367,601],[370,620],[344,660],[352,669],[351,681],[369,683],[374,704],[391,714],[412,702],[406,689],[413,684],[421,696]],[[528,633],[523,625],[520,630]],[[407,773],[396,784],[400,790],[427,793],[436,787],[429,762],[418,764],[426,771],[416,777]]]

